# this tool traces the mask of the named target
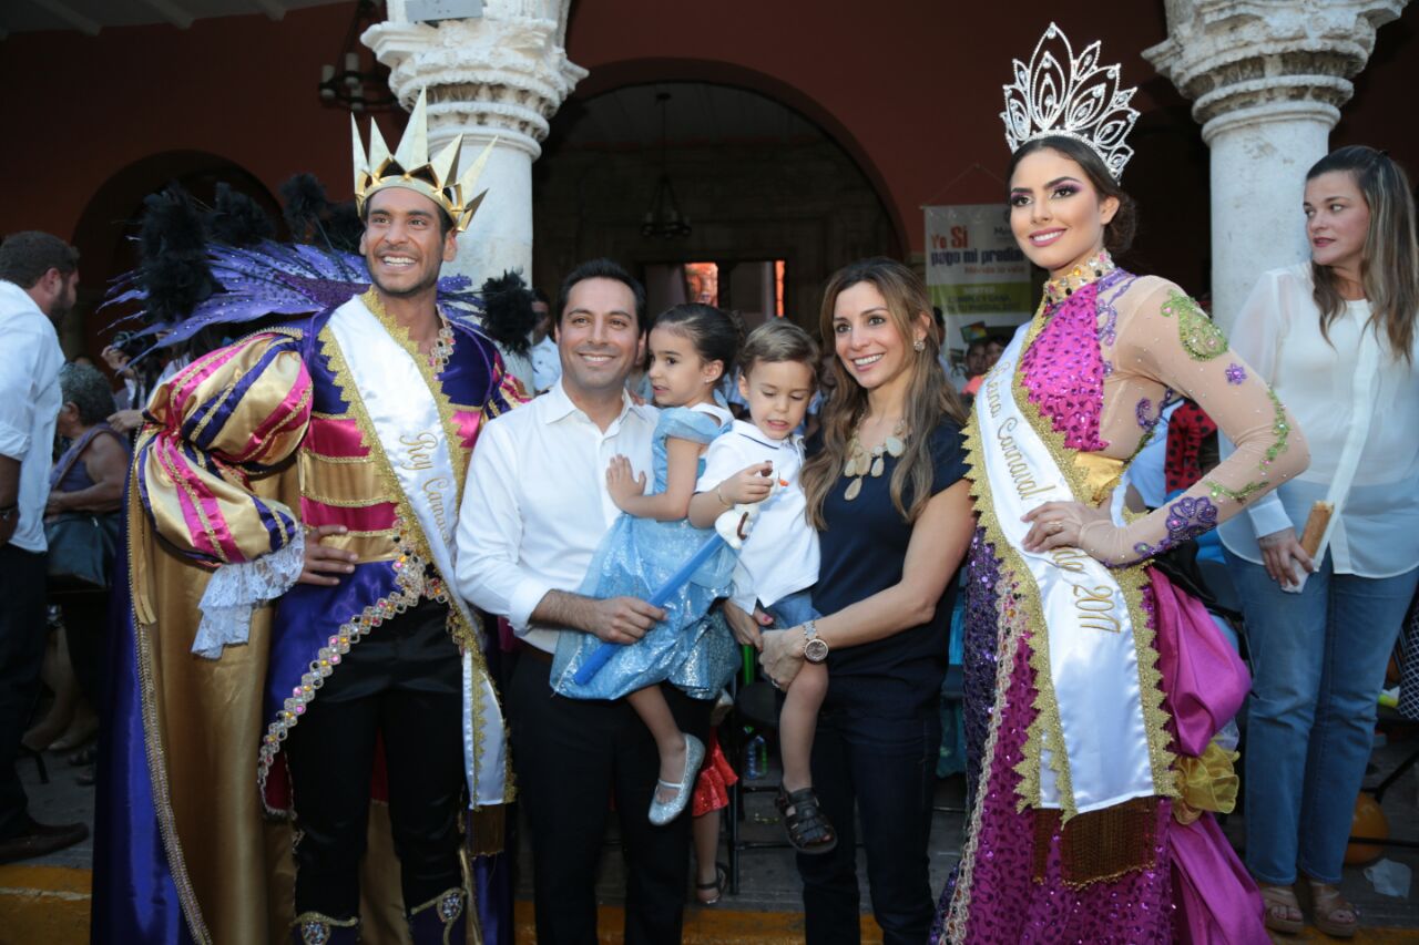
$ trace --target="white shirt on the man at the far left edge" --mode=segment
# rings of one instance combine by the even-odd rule
[[[54,423],[62,407],[64,352],[54,322],[30,294],[0,280],[0,455],[20,461],[16,548],[43,552],[44,504],[50,498]]]

